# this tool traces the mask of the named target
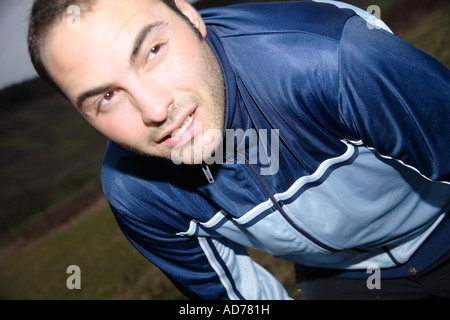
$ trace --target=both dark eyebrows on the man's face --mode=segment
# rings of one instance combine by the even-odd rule
[[[142,47],[142,44],[145,42],[145,40],[148,38],[148,36],[155,30],[155,29],[161,29],[167,26],[166,22],[162,22],[162,21],[157,21],[155,23],[146,25],[141,32],[138,33],[137,37],[134,40],[134,44],[133,44],[133,50],[131,52],[130,55],[130,65],[134,65],[135,61],[136,61],[136,57],[139,54],[139,51]],[[88,100],[91,97],[95,97],[103,92],[106,92],[107,90],[109,90],[111,87],[113,87],[112,84],[107,84],[107,85],[103,85],[100,87],[97,87],[95,89],[91,89],[88,90],[82,94],[80,94],[77,98],[76,98],[76,106],[78,109],[82,109],[84,103],[86,102],[86,100]]]

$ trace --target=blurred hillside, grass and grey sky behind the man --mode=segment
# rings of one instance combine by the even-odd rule
[[[449,68],[448,0],[346,2],[379,6],[395,34]],[[0,2],[0,299],[184,299],[116,226],[99,177],[105,138],[37,78],[25,40],[31,3]],[[290,263],[250,253],[301,298]],[[66,286],[70,265],[81,290]]]

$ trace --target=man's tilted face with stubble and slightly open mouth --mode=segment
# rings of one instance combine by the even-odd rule
[[[205,37],[198,13],[177,3]],[[80,28],[58,23],[42,52],[63,92],[116,143],[172,160],[175,147],[194,141],[203,151],[218,146],[206,132],[223,130],[221,69],[206,41],[161,1],[99,0]],[[177,161],[198,162],[190,150]]]

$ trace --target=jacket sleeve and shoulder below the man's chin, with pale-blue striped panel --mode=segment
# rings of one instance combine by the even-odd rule
[[[172,181],[181,167],[167,165],[108,141],[103,192],[130,243],[189,299],[290,299],[242,245],[220,235],[188,234],[195,221],[185,212],[207,203],[175,188]]]

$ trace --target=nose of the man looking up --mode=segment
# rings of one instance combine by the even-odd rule
[[[167,119],[173,98],[169,91],[153,85],[137,85],[132,90],[136,109],[146,125],[161,123]]]

